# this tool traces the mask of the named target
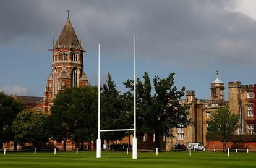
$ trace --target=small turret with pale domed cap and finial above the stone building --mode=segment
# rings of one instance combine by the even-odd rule
[[[211,83],[211,100],[224,101],[225,100],[225,87],[224,83],[219,79],[219,72],[216,71],[216,80]]]

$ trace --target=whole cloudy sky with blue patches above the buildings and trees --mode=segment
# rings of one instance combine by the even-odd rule
[[[176,73],[175,85],[210,99],[210,84],[240,80],[256,83],[256,1],[254,0],[0,0],[0,90],[43,96],[51,72],[53,38],[70,21],[87,53],[84,70],[91,85],[109,72],[117,88],[134,74],[151,79]],[[226,95],[226,99],[228,96]]]

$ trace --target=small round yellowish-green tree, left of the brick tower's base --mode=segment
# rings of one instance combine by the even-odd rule
[[[48,115],[33,109],[20,112],[12,124],[14,140],[22,146],[32,143],[40,146],[49,140]]]

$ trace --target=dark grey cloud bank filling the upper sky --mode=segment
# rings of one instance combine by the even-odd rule
[[[20,36],[58,38],[66,11],[88,51],[101,43],[115,57],[132,54],[191,68],[255,62],[255,20],[227,10],[235,1],[1,1],[0,44]],[[43,43],[46,43],[44,41]]]

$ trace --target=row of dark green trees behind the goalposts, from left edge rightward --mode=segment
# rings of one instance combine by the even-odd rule
[[[153,86],[151,85],[153,83]],[[108,73],[101,88],[101,129],[133,128],[134,81],[127,80],[127,91],[121,94]],[[150,80],[144,73],[137,79],[137,132],[139,135],[155,134],[155,146],[160,136],[173,137],[173,128],[192,124],[188,118],[189,105],[179,104],[185,88],[174,86],[174,73],[167,78],[156,76]],[[98,88],[71,88],[59,93],[51,107],[51,115],[25,110],[22,103],[0,93],[0,140],[41,145],[51,140],[72,140],[80,143],[95,141],[98,130]],[[5,101],[10,101],[5,103]],[[101,133],[101,139],[122,140],[132,132]],[[65,148],[65,144],[64,144]]]

